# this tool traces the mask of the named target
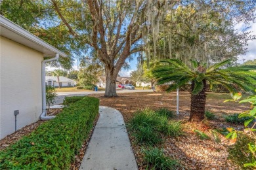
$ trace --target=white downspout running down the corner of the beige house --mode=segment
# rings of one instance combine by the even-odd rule
[[[42,105],[42,109],[43,112],[40,116],[41,120],[51,120],[53,118],[55,118],[55,116],[47,116],[47,110],[46,110],[46,89],[45,89],[45,65],[47,62],[49,61],[53,61],[58,59],[58,54],[55,55],[54,58],[51,59],[45,59],[42,61],[42,99],[43,99],[43,105]]]

